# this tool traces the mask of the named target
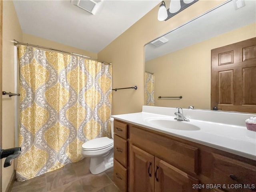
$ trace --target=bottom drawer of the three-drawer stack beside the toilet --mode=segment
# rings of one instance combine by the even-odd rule
[[[127,170],[114,159],[114,183],[122,192],[127,191]]]

